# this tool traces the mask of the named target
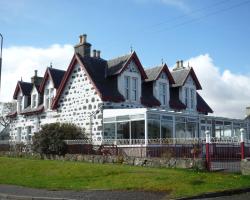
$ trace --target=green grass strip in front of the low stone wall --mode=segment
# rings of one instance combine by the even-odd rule
[[[168,192],[172,197],[250,187],[239,174],[0,157],[0,184],[46,189]]]

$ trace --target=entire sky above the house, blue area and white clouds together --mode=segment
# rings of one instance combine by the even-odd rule
[[[111,59],[138,54],[145,68],[184,60],[214,115],[250,106],[250,0],[0,0],[4,37],[0,101],[38,69],[66,70],[78,36]]]

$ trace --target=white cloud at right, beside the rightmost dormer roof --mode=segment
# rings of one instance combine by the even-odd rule
[[[208,54],[187,62],[193,66],[202,85],[200,94],[214,110],[214,115],[233,118],[245,116],[245,108],[250,105],[249,75],[234,74],[229,70],[220,72]]]

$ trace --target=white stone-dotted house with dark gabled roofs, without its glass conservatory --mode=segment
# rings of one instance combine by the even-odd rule
[[[81,35],[66,71],[48,67],[31,82],[17,83],[17,110],[9,113],[11,140],[28,142],[41,126],[53,122],[74,123],[89,138],[103,138],[105,109],[158,109],[206,116],[212,109],[198,94],[201,89],[193,68],[177,62],[172,72],[166,64],[142,66],[137,54],[105,60]],[[121,113],[117,113],[121,114]],[[131,129],[131,128],[130,128]],[[139,130],[139,129],[138,129]]]

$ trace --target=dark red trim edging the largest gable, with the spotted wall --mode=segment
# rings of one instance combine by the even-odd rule
[[[68,79],[69,79],[69,76],[70,76],[70,74],[71,74],[71,72],[72,72],[72,70],[73,70],[73,68],[74,68],[76,62],[78,62],[78,63],[80,64],[81,68],[82,68],[82,69],[84,70],[84,72],[87,74],[87,77],[89,78],[90,82],[91,82],[92,85],[94,86],[94,88],[95,88],[97,94],[100,96],[101,99],[103,99],[103,97],[102,97],[100,91],[98,90],[98,88],[96,87],[94,81],[92,80],[92,78],[90,77],[89,73],[88,73],[87,70],[85,69],[84,64],[82,63],[81,59],[78,57],[77,54],[74,54],[74,56],[72,57],[72,59],[71,59],[71,61],[70,61],[69,67],[68,67],[68,69],[67,69],[65,75],[63,76],[63,80],[62,80],[61,83],[60,83],[60,86],[59,86],[59,88],[58,88],[58,91],[57,91],[57,94],[56,94],[56,96],[55,96],[55,99],[54,99],[53,102],[52,102],[52,109],[56,109],[58,100],[59,100],[59,98],[60,98],[60,96],[61,96],[61,93],[63,92],[63,89],[64,89],[64,87],[65,87],[65,85],[66,85],[66,83],[67,83],[67,81],[68,81]]]

